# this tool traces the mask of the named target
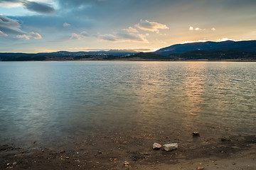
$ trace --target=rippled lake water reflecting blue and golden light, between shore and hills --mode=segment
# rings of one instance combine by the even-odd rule
[[[256,135],[255,62],[0,62],[0,144]]]

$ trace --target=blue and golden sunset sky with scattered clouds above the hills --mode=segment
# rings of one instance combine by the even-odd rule
[[[256,40],[255,0],[0,0],[0,52]]]

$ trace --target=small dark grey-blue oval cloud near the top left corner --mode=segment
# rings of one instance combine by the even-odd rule
[[[49,4],[38,3],[34,1],[23,1],[23,5],[30,11],[34,11],[37,13],[55,13],[55,9],[51,7]]]

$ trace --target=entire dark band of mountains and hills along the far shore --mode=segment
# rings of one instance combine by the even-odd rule
[[[256,40],[191,42],[164,47],[155,52],[137,50],[109,50],[90,52],[1,52],[0,61],[43,61],[43,60],[256,60]]]

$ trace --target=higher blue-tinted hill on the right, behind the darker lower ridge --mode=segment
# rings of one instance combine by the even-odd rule
[[[223,41],[223,42],[193,42],[186,44],[176,44],[171,45],[169,47],[164,47],[154,54],[157,55],[172,55],[177,53],[190,52],[195,50],[236,50],[240,52],[256,52],[256,40],[248,40],[248,41]]]

